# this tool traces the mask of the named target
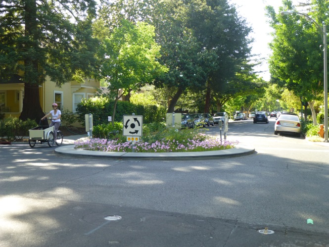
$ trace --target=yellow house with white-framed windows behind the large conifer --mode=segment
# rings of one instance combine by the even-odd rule
[[[24,83],[19,75],[13,76],[9,81],[0,81],[0,112],[4,117],[19,117],[23,108]],[[75,112],[78,103],[83,98],[91,98],[100,88],[99,81],[86,79],[84,83],[67,82],[60,88],[46,78],[43,85],[39,86],[40,104],[45,113],[52,110],[52,103],[57,103],[58,108]]]

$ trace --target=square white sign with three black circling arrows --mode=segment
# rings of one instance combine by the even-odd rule
[[[142,136],[143,116],[123,116],[123,136]]]

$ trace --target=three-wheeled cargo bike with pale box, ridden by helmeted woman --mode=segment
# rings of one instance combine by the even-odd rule
[[[51,119],[51,118],[50,118]],[[39,126],[29,130],[29,145],[33,148],[36,143],[47,143],[49,147],[54,146],[56,143],[57,146],[61,146],[63,143],[63,133],[57,131],[57,140],[54,140],[54,126],[49,127],[48,125],[42,125],[40,121]]]

